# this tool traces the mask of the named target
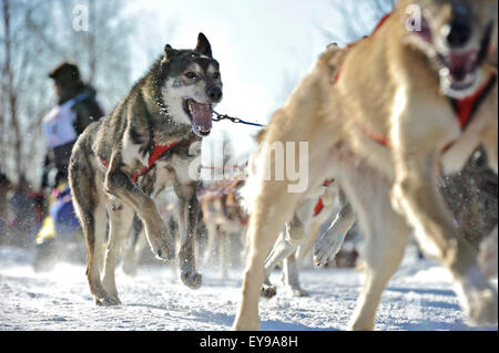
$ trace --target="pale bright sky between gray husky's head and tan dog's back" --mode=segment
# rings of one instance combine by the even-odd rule
[[[150,65],[151,50],[160,54],[166,43],[173,48],[194,48],[197,33],[203,32],[221,64],[224,83],[224,98],[216,111],[266,124],[330,42],[322,28],[334,32],[334,23],[340,22],[335,11],[338,2],[134,1],[124,11],[140,13],[141,19],[138,31],[141,34],[133,45],[133,80]],[[215,123],[207,139],[220,138],[223,131],[232,136],[237,153],[254,147],[257,128]]]

